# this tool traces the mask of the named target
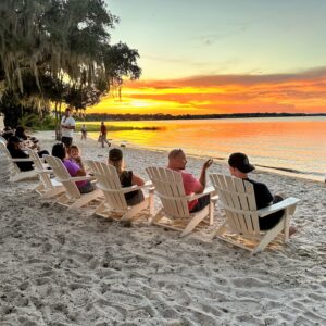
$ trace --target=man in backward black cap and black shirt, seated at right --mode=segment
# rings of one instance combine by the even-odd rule
[[[247,180],[253,185],[256,209],[266,208],[273,203],[279,202],[283,198],[278,195],[273,196],[267,186],[262,183],[249,179],[248,173],[252,172],[255,167],[249,163],[248,156],[243,153],[233,153],[228,159],[230,174],[237,178]],[[272,213],[265,217],[260,217],[260,229],[267,230],[273,228],[283,217],[284,211]],[[293,226],[290,227],[289,234],[296,233]]]

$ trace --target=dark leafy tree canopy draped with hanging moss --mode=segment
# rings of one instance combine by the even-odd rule
[[[85,110],[124,76],[139,78],[137,50],[110,43],[116,23],[102,0],[1,0],[0,97],[60,115],[62,104]]]

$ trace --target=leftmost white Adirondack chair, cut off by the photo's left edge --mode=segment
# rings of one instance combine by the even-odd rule
[[[36,179],[38,178],[38,174],[35,170],[30,171],[21,171],[20,167],[15,164],[16,162],[30,162],[30,159],[13,159],[7,149],[7,146],[3,141],[0,141],[0,156],[2,158],[2,168],[3,172],[9,174],[9,180],[12,183],[27,180],[27,179]],[[5,159],[7,160],[5,160]],[[4,170],[5,165],[5,170]]]

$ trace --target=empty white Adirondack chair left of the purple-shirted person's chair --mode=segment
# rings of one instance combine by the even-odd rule
[[[41,198],[52,198],[65,191],[63,185],[55,178],[50,178],[52,170],[47,168],[47,164],[43,164],[41,159],[34,150],[28,150],[30,160],[34,163],[34,168],[39,176],[39,184],[34,190],[41,196]]]

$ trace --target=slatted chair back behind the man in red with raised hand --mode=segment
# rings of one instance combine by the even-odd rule
[[[181,174],[166,167],[147,167],[164,212],[172,217],[189,217],[188,201]]]

